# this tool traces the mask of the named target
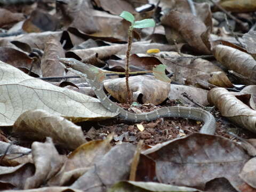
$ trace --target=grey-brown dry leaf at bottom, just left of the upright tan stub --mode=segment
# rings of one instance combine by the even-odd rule
[[[127,180],[134,152],[135,146],[131,143],[114,146],[70,187],[94,192],[106,190],[118,181]]]

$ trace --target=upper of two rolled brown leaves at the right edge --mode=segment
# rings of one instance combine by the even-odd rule
[[[225,45],[214,46],[213,54],[229,70],[234,70],[236,73],[248,77],[247,81],[241,79],[242,83],[255,84],[256,61],[250,54]]]

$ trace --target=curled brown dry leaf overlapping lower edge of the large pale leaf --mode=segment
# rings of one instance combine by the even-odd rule
[[[51,137],[54,143],[71,150],[86,142],[80,126],[41,109],[22,113],[15,121],[12,132],[31,140]]]

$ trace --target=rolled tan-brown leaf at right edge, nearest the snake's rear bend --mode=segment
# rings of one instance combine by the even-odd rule
[[[224,88],[213,88],[208,93],[208,100],[215,105],[222,116],[231,122],[256,133],[256,111],[238,100]]]

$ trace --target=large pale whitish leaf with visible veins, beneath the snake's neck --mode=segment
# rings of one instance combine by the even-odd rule
[[[4,62],[0,62],[0,93],[0,126],[13,125],[20,114],[31,109],[44,109],[77,122],[117,115],[98,99],[30,77]]]

